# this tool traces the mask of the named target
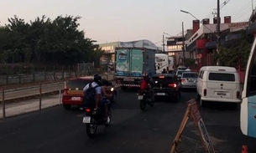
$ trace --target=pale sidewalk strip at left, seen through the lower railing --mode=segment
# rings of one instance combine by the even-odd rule
[[[43,110],[45,108],[49,108],[55,105],[61,105],[61,97],[62,94],[43,97],[41,109]],[[38,110],[39,99],[29,99],[5,105],[6,118]],[[3,105],[0,105],[0,120],[3,120]]]

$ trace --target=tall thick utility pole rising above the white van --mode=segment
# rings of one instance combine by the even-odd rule
[[[220,33],[221,33],[221,18],[220,18],[220,0],[217,0],[217,54],[219,54],[220,48]],[[217,66],[219,65],[219,60],[217,59]]]

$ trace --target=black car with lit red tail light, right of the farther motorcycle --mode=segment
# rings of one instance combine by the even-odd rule
[[[152,77],[154,97],[173,97],[175,102],[180,100],[179,81],[175,74],[156,74]]]

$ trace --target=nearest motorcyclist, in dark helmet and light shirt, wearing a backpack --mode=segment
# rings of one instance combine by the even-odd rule
[[[94,74],[93,75],[93,82],[91,83],[91,87],[94,88],[98,85],[96,88],[96,98],[95,98],[95,109],[98,110],[98,107],[100,104],[105,105],[105,117],[104,120],[107,121],[107,113],[108,113],[108,108],[107,108],[107,102],[108,100],[102,99],[103,96],[112,96],[111,94],[106,94],[105,90],[102,89],[102,76],[100,74]],[[85,88],[83,89],[86,92],[86,89],[89,88],[89,84],[86,84]]]

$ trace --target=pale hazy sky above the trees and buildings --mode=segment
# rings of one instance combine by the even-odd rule
[[[133,41],[148,39],[160,46],[165,37],[181,34],[184,28],[192,28],[193,18],[210,18],[213,22],[217,0],[0,0],[0,25],[8,23],[8,18],[17,15],[25,21],[45,15],[80,16],[79,29],[86,38],[97,43]],[[226,2],[226,5],[223,3]],[[256,0],[220,0],[220,14],[231,16],[232,22],[248,21]]]

